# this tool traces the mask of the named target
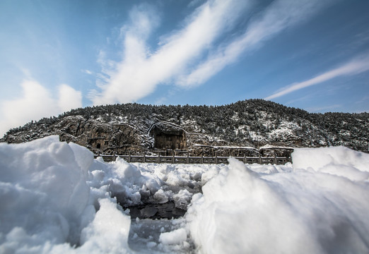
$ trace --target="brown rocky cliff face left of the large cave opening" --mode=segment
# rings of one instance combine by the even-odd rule
[[[82,116],[68,116],[51,126],[39,126],[33,131],[8,135],[3,139],[7,143],[23,143],[47,135],[59,135],[61,141],[83,145],[95,153],[127,154],[141,152],[142,147],[150,148],[152,140],[146,138],[128,124],[102,123]]]

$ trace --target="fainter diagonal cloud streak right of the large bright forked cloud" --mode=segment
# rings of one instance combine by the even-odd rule
[[[247,25],[245,33],[219,47],[188,75],[177,80],[179,85],[191,87],[206,82],[225,66],[237,61],[245,52],[258,49],[271,37],[296,25],[319,11],[329,1],[320,0],[277,0]]]

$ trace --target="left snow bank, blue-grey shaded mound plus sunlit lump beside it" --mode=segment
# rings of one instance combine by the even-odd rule
[[[128,248],[130,219],[116,202],[105,195],[95,212],[98,195],[86,182],[92,166],[90,151],[61,143],[57,136],[1,143],[0,253],[122,253]]]

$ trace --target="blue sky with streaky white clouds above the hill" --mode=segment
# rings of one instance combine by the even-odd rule
[[[369,1],[0,1],[0,132],[76,107],[369,111]]]

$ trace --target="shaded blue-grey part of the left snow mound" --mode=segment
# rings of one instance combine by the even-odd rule
[[[52,243],[78,243],[78,231],[86,226],[81,217],[88,206],[86,176],[93,155],[76,159],[75,148],[57,136],[0,144],[2,234],[23,229]]]

